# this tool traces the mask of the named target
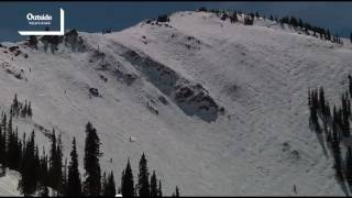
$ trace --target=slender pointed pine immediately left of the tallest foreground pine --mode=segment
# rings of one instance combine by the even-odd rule
[[[67,196],[81,196],[81,182],[78,170],[78,154],[75,138],[73,140],[73,150],[70,152],[68,166]]]

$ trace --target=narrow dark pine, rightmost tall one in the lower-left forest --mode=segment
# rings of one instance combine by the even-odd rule
[[[139,173],[139,195],[142,197],[150,196],[150,182],[148,182],[148,170],[147,170],[147,161],[145,154],[143,153],[140,161],[140,173]]]

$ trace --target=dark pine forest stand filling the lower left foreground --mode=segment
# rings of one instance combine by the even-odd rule
[[[18,105],[16,95],[11,110],[21,107]],[[117,191],[122,196],[133,197],[163,197],[162,180],[157,178],[155,170],[150,175],[146,155],[143,153],[139,163],[139,174],[136,184],[128,160],[125,168],[121,174],[121,186],[116,189],[116,179],[113,172],[101,173],[100,139],[92,123],[86,124],[86,141],[84,168],[81,176],[79,173],[79,163],[77,154],[76,139],[73,138],[69,163],[67,158],[63,163],[63,142],[61,134],[52,130],[50,135],[51,148],[46,154],[45,148],[40,148],[35,142],[35,131],[29,136],[23,133],[19,136],[18,128],[13,129],[13,114],[1,113],[0,123],[0,164],[2,165],[2,175],[7,168],[18,170],[21,174],[18,189],[24,196],[50,196],[50,188],[53,189],[53,196],[107,196],[114,197]],[[179,188],[176,186],[172,196],[179,196]]]

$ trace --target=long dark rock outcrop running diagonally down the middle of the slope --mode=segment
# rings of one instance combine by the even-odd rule
[[[182,77],[175,70],[146,55],[129,48],[124,50],[122,56],[142,72],[165,96],[169,97],[185,114],[196,116],[207,122],[216,121],[218,114],[223,114],[224,109],[222,108],[220,112],[216,100],[200,84]],[[162,100],[161,102],[164,103],[165,101]]]

